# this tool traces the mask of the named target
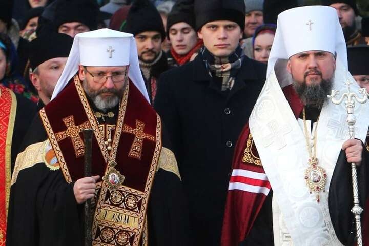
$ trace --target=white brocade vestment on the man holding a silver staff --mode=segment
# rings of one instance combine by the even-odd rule
[[[282,77],[277,79],[275,71],[271,72],[249,119],[251,134],[273,189],[274,243],[276,246],[342,245],[331,222],[328,191],[342,144],[348,139],[346,109],[344,104],[337,106],[327,100],[320,113],[317,158],[319,166],[326,170],[327,183],[317,202],[316,194],[310,194],[304,178],[309,154],[303,128],[281,90],[291,81],[286,82],[285,74]],[[352,81],[352,91],[357,92],[355,80],[337,60],[332,89],[345,92],[346,79]],[[364,142],[369,105],[356,104],[354,115],[357,117],[355,137]]]

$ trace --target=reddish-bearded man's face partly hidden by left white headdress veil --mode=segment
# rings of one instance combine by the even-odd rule
[[[67,63],[67,57],[56,57],[38,65],[37,72],[30,74],[30,80],[44,104],[48,104],[57,80]]]

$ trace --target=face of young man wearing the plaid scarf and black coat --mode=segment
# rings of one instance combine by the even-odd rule
[[[242,30],[237,23],[229,20],[208,22],[198,32],[204,46],[215,56],[227,57],[232,54],[242,38]]]

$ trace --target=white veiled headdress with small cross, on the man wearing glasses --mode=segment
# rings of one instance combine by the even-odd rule
[[[104,28],[77,34],[51,99],[54,99],[78,72],[78,65],[93,67],[130,65],[128,77],[150,103],[138,64],[136,42],[131,33]]]

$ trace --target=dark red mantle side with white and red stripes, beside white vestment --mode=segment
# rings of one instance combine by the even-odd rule
[[[271,192],[262,166],[243,161],[250,130],[246,125],[238,139],[224,210],[221,246],[238,246],[249,234],[261,207]],[[253,154],[257,154],[255,146]],[[255,156],[258,157],[258,156]]]

